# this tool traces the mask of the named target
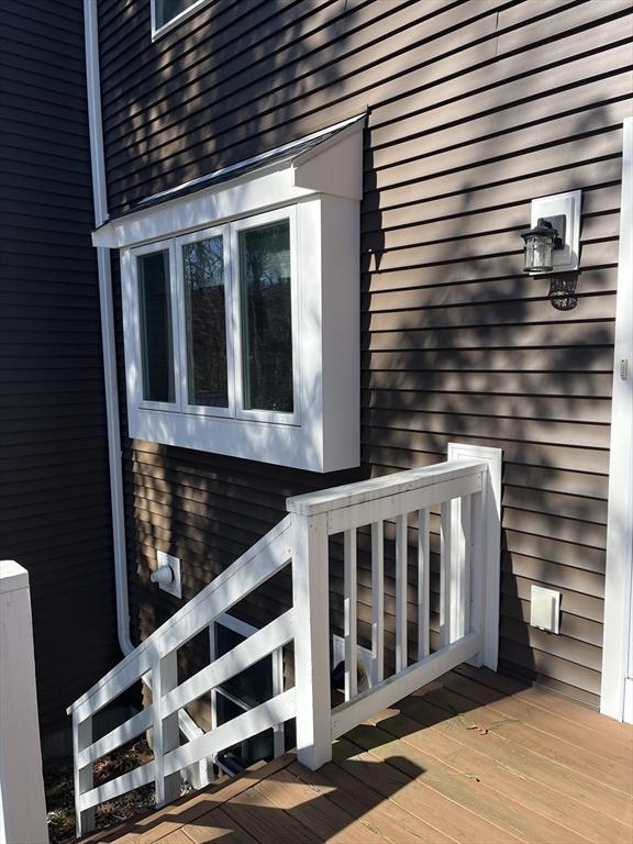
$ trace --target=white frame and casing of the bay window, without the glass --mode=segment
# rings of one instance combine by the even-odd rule
[[[130,436],[198,451],[325,473],[360,460],[359,200],[363,121],[346,122],[332,136],[292,160],[267,162],[226,182],[175,196],[113,220],[93,233],[95,245],[120,248],[127,419]],[[227,267],[235,344],[235,413],[214,409],[143,407],[133,279],[133,254],[168,240],[179,277],[177,245],[206,231],[229,232],[288,216],[291,221],[293,413],[241,411],[242,378],[237,266]],[[226,227],[225,227],[226,226]],[[225,243],[227,243],[225,238]],[[230,251],[233,253],[234,247]],[[181,295],[180,282],[173,287]],[[178,314],[184,313],[181,304]],[[176,322],[185,357],[182,316]],[[229,333],[227,331],[227,333]],[[179,397],[188,397],[179,375]]]

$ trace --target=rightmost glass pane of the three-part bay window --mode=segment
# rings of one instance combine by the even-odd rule
[[[244,408],[291,413],[288,220],[240,232]]]

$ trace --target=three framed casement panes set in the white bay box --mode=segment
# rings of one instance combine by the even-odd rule
[[[131,251],[143,408],[297,422],[295,236],[284,210]]]

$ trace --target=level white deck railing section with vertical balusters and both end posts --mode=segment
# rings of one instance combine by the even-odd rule
[[[448,462],[288,501],[293,517],[297,747],[316,768],[332,741],[459,663],[497,667],[501,452],[448,446]],[[431,653],[431,511],[440,509],[440,641]],[[385,677],[385,524],[395,523],[395,671]],[[410,526],[410,522],[413,522]],[[370,688],[357,689],[357,540],[370,531]],[[409,601],[415,532],[417,595]],[[330,537],[343,536],[345,702],[330,707]],[[413,612],[414,610],[414,612]],[[417,654],[408,656],[409,633]]]

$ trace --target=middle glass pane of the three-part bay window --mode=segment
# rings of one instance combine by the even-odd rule
[[[189,403],[229,407],[222,237],[182,247]]]

